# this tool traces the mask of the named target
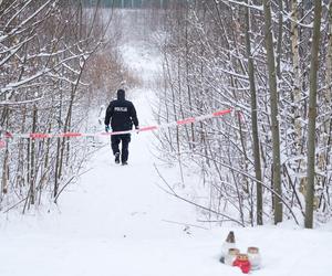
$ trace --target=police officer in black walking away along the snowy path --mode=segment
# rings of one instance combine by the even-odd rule
[[[105,131],[110,131],[110,120],[112,131],[126,131],[132,130],[133,125],[138,129],[138,119],[135,106],[132,102],[125,99],[125,91],[117,91],[117,99],[112,100],[106,109],[105,116]],[[120,151],[118,145],[122,142],[122,150]],[[115,157],[115,163],[127,164],[128,160],[128,146],[131,142],[131,134],[112,135],[111,146]]]

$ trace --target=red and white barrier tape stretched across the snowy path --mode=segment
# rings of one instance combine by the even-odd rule
[[[197,121],[205,120],[205,119],[220,117],[220,116],[229,114],[229,113],[231,113],[231,109],[225,109],[225,110],[215,112],[215,113],[209,114],[209,115],[203,115],[203,116],[198,116],[198,117],[190,117],[190,118],[180,119],[180,120],[177,120],[177,121],[172,121],[172,123],[168,123],[168,124],[146,126],[146,127],[141,127],[139,129],[126,130],[126,131],[94,132],[94,134],[89,134],[89,132],[10,134],[8,131],[4,131],[4,132],[2,132],[1,137],[7,138],[7,139],[8,138],[50,139],[50,138],[74,138],[74,137],[102,137],[102,136],[112,136],[112,135],[134,134],[134,132],[152,131],[152,130],[157,130],[157,129],[164,129],[164,128],[169,128],[169,127],[175,127],[175,126],[193,124],[193,123],[197,123]],[[4,147],[4,145],[6,145],[6,142],[3,140],[1,140],[1,137],[0,137],[0,148]]]

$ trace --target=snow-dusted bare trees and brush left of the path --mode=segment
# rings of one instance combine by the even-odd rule
[[[46,199],[56,202],[92,151],[87,139],[34,139],[30,134],[86,130],[82,118],[105,99],[92,93],[101,83],[90,85],[86,78],[87,63],[96,67],[92,57],[98,51],[107,47],[116,56],[116,45],[105,40],[113,10],[105,15],[98,2],[89,9],[83,1],[62,0],[0,6],[0,126],[22,137],[0,151],[1,210],[22,205],[25,212]],[[105,63],[113,65],[111,74],[122,75],[120,60]]]

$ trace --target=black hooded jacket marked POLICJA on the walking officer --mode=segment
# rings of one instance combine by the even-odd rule
[[[138,128],[136,109],[132,102],[125,99],[125,92],[117,91],[117,99],[112,100],[106,109],[105,125],[113,131],[123,131],[133,129],[133,124]]]

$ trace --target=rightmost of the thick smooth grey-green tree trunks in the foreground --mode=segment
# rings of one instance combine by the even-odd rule
[[[314,167],[315,167],[315,118],[317,118],[317,91],[318,91],[318,68],[320,49],[320,28],[322,15],[321,0],[314,1],[314,22],[311,45],[310,64],[310,94],[309,94],[309,123],[308,123],[308,169],[307,169],[307,194],[305,194],[305,229],[313,225],[313,197],[314,197]]]

